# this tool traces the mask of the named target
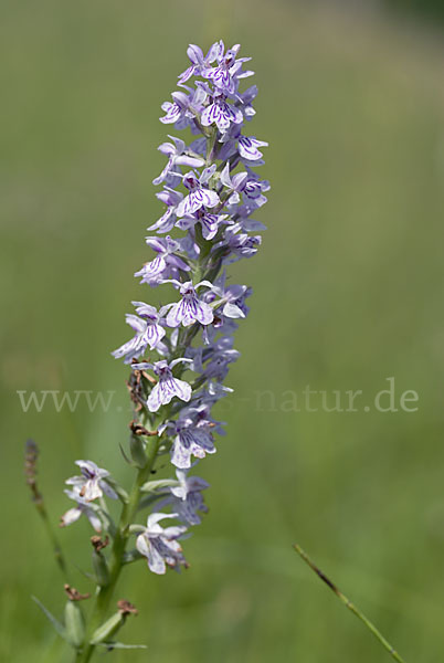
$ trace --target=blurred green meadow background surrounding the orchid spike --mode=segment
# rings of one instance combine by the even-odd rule
[[[408,3],[406,3],[408,4]],[[432,3],[430,3],[432,7]],[[63,481],[92,457],[127,476],[124,314],[150,301],[133,272],[158,218],[158,122],[186,48],[222,36],[253,56],[252,126],[269,140],[264,245],[242,359],[221,407],[228,436],[199,470],[210,514],[191,568],[128,569],[118,662],[388,660],[292,551],[303,545],[406,661],[443,657],[444,46],[433,22],[359,3],[243,0],[7,2],[0,23],[2,357],[0,660],[70,662],[31,594],[60,613],[62,579],[23,486],[27,436],[54,522]],[[145,290],[144,290],[145,288]],[[395,378],[416,412],[366,412]],[[282,394],[362,390],[358,412],[284,411]],[[118,390],[23,413],[17,390]],[[257,407],[271,390],[276,408]],[[302,397],[300,397],[302,398]],[[89,529],[61,532],[88,568]],[[81,541],[81,543],[80,543]],[[82,591],[88,582],[74,571]]]

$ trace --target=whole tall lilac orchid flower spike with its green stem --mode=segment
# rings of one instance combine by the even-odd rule
[[[121,567],[140,558],[155,573],[186,567],[179,540],[207,512],[202,491],[209,484],[191,472],[215,452],[214,434],[224,432],[211,411],[232,391],[223,382],[239,357],[233,333],[249,313],[246,298],[252,292],[230,284],[226,267],[257,252],[257,233],[265,227],[252,214],[266,202],[264,192],[269,188],[253,171],[264,164],[260,148],[267,144],[243,133],[255,114],[257,87],[240,91],[242,80],[253,72],[244,69],[251,59],[239,57],[239,44],[225,51],[219,41],[204,55],[190,45],[190,66],[179,76],[180,91],[162,104],[160,120],[175,130],[188,129],[191,141],[187,145],[171,135],[159,147],[168,161],[154,183],[162,186],[157,198],[166,208],[148,228],[152,234],[146,243],[155,256],[135,275],[176,296],[160,308],[133,302],[135,312],[126,320],[134,337],[113,352],[131,370],[134,420],[129,452],[124,452],[137,469],[131,492],[92,461],[77,461],[81,474],[66,482],[75,506],[62,517],[62,525],[84,515],[96,539],[106,535],[112,541],[108,558],[101,548],[94,549],[104,578],[98,582],[93,625],[78,645],[78,661],[88,661],[99,643],[97,630],[103,629]],[[175,476],[152,480],[165,455],[170,456]],[[123,503],[118,523],[109,515],[106,498]],[[146,525],[135,522],[142,508],[149,509]],[[128,550],[133,535],[135,545]]]

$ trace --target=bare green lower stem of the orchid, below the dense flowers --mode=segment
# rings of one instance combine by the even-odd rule
[[[91,644],[91,639],[94,631],[104,622],[109,603],[113,599],[114,591],[124,566],[123,556],[128,540],[128,528],[136,516],[141,496],[140,488],[147,482],[151,473],[158,450],[159,438],[149,438],[147,442],[146,465],[138,471],[133,490],[129,494],[128,504],[125,504],[121,508],[120,519],[110,554],[109,582],[106,587],[99,588],[97,592],[96,602],[91,615],[89,627],[86,632],[85,644],[83,650],[76,654],[76,663],[88,663],[94,654],[95,645]]]

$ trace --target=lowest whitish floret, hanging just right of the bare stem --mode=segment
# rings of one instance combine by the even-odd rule
[[[176,570],[187,567],[178,538],[187,532],[183,525],[162,527],[159,520],[176,518],[177,514],[155,513],[148,516],[146,529],[136,539],[136,548],[147,558],[149,570],[162,575],[167,566]]]

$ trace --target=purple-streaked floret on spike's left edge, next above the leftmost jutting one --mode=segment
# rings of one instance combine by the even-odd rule
[[[135,276],[141,276],[141,283],[158,285],[162,280],[178,275],[180,270],[183,272],[190,270],[189,265],[177,255],[181,250],[180,243],[169,235],[146,238],[146,243],[156,251],[157,256],[135,273]]]

